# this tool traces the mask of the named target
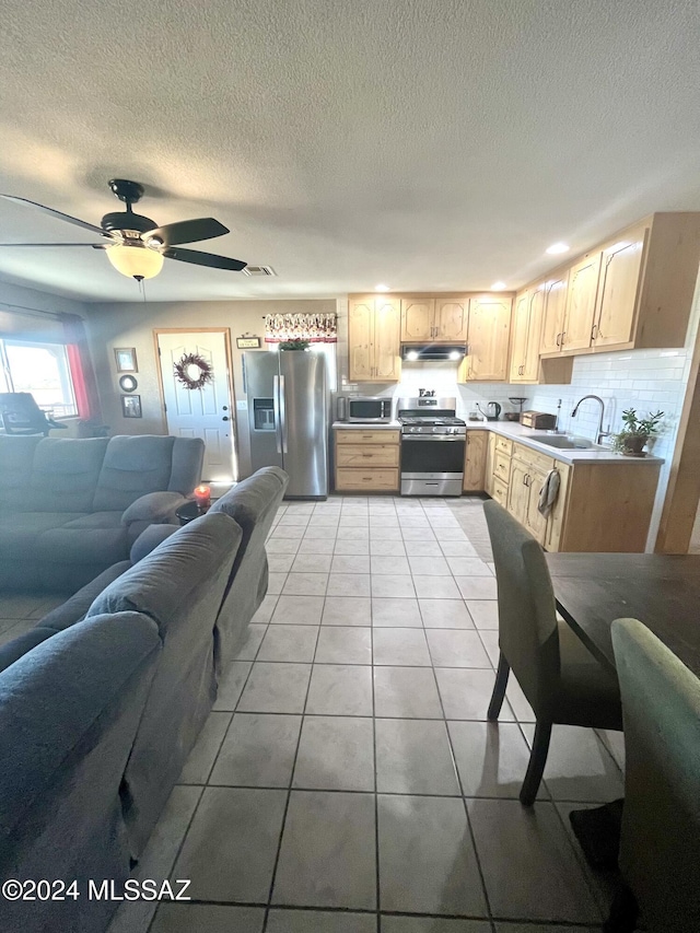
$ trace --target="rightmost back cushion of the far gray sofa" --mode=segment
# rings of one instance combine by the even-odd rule
[[[156,434],[110,438],[91,511],[124,512],[140,495],[168,489],[174,443]]]

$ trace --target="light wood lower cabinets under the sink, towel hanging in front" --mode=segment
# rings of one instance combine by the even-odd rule
[[[545,517],[538,509],[539,494],[555,468],[559,494]],[[483,489],[548,551],[641,553],[660,468],[658,463],[630,463],[623,457],[567,464],[491,433]]]

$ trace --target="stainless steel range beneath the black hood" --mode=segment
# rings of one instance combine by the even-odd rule
[[[462,495],[466,423],[456,398],[399,398],[401,495]]]

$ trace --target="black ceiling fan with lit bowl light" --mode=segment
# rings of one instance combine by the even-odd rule
[[[133,213],[131,206],[143,197],[143,186],[138,182],[129,182],[126,178],[113,178],[109,188],[127,207],[124,211],[106,213],[101,225],[88,223],[75,217],[70,217],[61,211],[30,201],[26,198],[16,198],[13,195],[0,195],[8,201],[19,205],[28,205],[37,208],[50,217],[65,220],[83,230],[103,236],[103,243],[0,243],[0,247],[8,246],[90,246],[93,249],[106,249],[107,258],[122,276],[132,277],[137,281],[152,279],[163,268],[163,259],[177,259],[179,263],[191,263],[195,266],[209,266],[212,269],[229,269],[240,272],[245,269],[246,263],[241,259],[230,259],[228,256],[215,256],[213,253],[200,253],[196,249],[180,249],[180,243],[198,243],[201,240],[213,240],[214,236],[223,236],[229,229],[212,217],[200,217],[192,220],[183,220],[177,223],[166,223],[159,226],[155,221],[148,217]]]

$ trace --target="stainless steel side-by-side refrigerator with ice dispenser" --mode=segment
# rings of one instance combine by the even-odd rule
[[[328,495],[326,359],[303,350],[244,353],[253,469],[280,466],[287,498]]]

